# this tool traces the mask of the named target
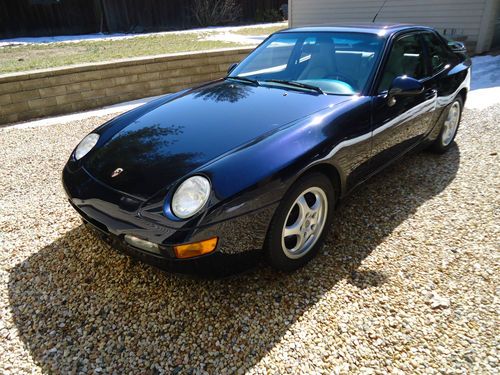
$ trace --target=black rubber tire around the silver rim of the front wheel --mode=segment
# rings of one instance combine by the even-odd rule
[[[318,229],[318,231],[320,232],[315,235],[316,239],[311,240],[313,244],[310,246],[310,249],[307,250],[303,255],[300,255],[298,258],[292,259],[290,258],[290,256],[286,255],[286,252],[283,249],[282,233],[285,226],[285,220],[287,220],[288,214],[292,212],[292,208],[295,205],[296,200],[302,195],[302,193],[306,192],[308,189],[316,189],[316,191],[317,189],[320,189],[324,192],[324,196],[322,197],[323,199],[326,197],[326,219],[324,221],[322,230]],[[311,174],[305,175],[299,178],[293,184],[293,186],[288,190],[280,205],[276,209],[267,232],[267,237],[264,245],[264,254],[267,262],[271,265],[271,267],[280,271],[291,272],[296,270],[297,268],[304,266],[318,253],[318,251],[323,246],[325,236],[327,235],[329,227],[331,226],[333,211],[335,208],[335,199],[335,189],[332,186],[331,181],[322,173],[313,172]]]

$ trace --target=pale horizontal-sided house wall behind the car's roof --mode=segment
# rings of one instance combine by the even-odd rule
[[[289,23],[291,27],[296,27],[334,22],[371,22],[383,2],[383,0],[289,0],[291,9]],[[493,35],[493,26],[489,25],[495,13],[491,13],[488,9],[497,2],[498,0],[387,0],[377,17],[377,22],[432,26],[444,35],[464,41],[470,51],[480,53],[489,48],[488,39],[491,43],[492,37],[488,36],[489,34],[485,36],[485,33]],[[481,31],[483,35],[480,35]]]

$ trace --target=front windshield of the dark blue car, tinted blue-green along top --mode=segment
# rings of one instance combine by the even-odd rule
[[[368,33],[278,33],[243,60],[229,77],[316,89],[326,94],[359,94],[383,43],[382,37]]]

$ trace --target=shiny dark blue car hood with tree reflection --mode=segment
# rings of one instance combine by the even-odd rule
[[[111,136],[84,166],[106,185],[147,199],[218,156],[346,99],[217,81],[112,121],[105,127]]]

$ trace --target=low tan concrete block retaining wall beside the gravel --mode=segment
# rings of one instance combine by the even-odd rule
[[[0,75],[0,124],[176,92],[223,77],[250,51],[176,53]]]

